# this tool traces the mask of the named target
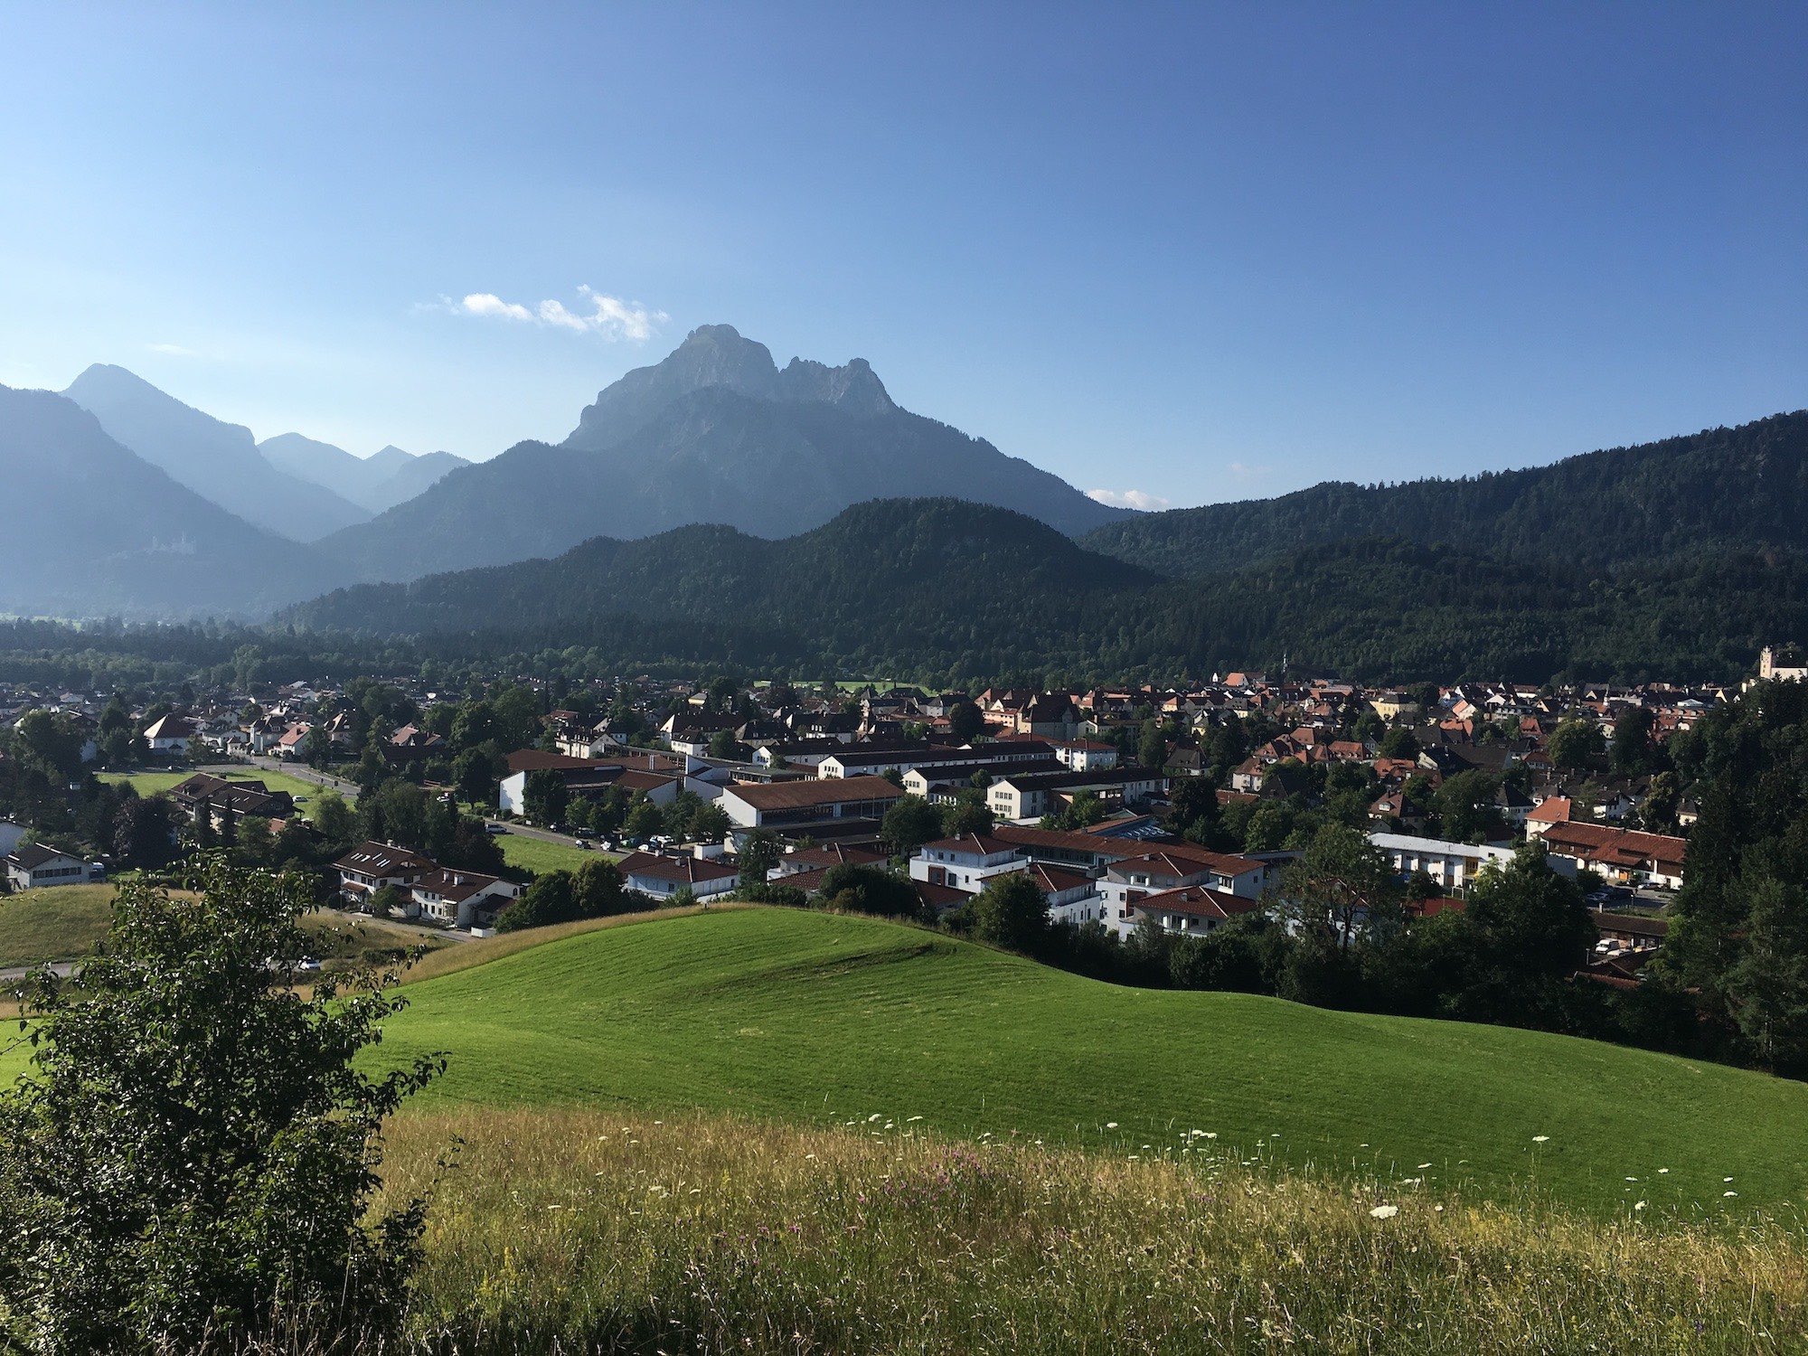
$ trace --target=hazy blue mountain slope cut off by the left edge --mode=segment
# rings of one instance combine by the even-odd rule
[[[0,387],[0,609],[262,617],[344,575],[179,485],[49,391]]]

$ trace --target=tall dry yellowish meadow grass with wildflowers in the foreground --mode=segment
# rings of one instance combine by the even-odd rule
[[[421,1351],[1808,1349],[1808,1253],[1763,1222],[1466,1204],[1199,1135],[1130,1159],[577,1110],[403,1117],[391,1188],[432,1181],[454,1139]]]

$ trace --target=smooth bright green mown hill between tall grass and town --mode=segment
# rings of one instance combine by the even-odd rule
[[[1530,1181],[1595,1211],[1642,1199],[1718,1217],[1808,1197],[1808,1087],[1718,1065],[1121,989],[920,929],[786,909],[526,949],[508,938],[476,964],[486,946],[438,958],[445,969],[410,985],[412,1007],[389,1027],[385,1054],[452,1056],[428,1108],[877,1116],[1139,1157],[1210,1134],[1280,1166],[1486,1195]]]

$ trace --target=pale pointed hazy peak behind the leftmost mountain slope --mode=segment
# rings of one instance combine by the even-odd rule
[[[96,363],[63,394],[116,443],[260,528],[315,541],[371,517],[331,490],[277,470],[259,456],[250,428],[190,409],[123,367]]]

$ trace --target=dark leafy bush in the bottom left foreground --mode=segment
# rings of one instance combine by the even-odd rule
[[[199,897],[121,886],[72,991],[40,975],[33,1072],[0,1094],[0,1347],[329,1351],[394,1331],[423,1199],[369,1217],[376,1135],[439,1061],[353,1058],[391,978],[291,985],[307,886],[206,859]]]

